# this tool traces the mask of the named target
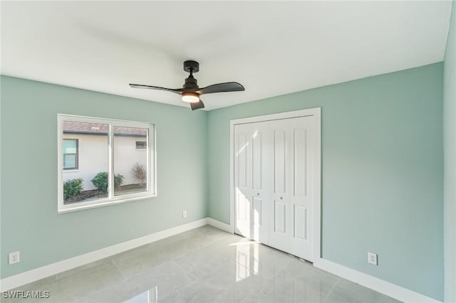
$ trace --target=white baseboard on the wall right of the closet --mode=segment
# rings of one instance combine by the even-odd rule
[[[351,268],[339,265],[328,260],[324,260],[321,258],[315,260],[314,266],[320,268],[321,270],[326,270],[327,272],[331,272],[334,275],[343,277],[346,280],[358,283],[359,285],[363,285],[364,287],[368,287],[370,289],[375,290],[376,292],[386,294],[389,297],[393,297],[394,299],[398,299],[403,302],[440,302],[437,299],[427,297],[424,294],[413,292],[413,290],[400,287],[399,285],[386,282],[385,280],[378,279],[377,277],[367,275],[363,272],[358,272],[358,270],[353,270]]]

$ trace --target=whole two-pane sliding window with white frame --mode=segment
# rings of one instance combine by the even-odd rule
[[[58,115],[58,180],[59,213],[155,196],[154,124]]]

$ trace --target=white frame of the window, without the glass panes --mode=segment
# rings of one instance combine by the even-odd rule
[[[110,184],[108,190],[108,197],[100,198],[94,201],[78,202],[71,204],[63,203],[63,121],[69,122],[87,122],[108,124],[108,182]],[[113,127],[138,127],[149,129],[147,137],[147,191],[140,193],[128,193],[125,195],[114,196],[114,149]],[[105,119],[96,117],[83,117],[75,115],[57,115],[57,161],[58,161],[58,213],[68,213],[71,211],[81,211],[88,208],[96,208],[101,206],[109,206],[118,203],[125,203],[131,201],[143,200],[146,198],[154,198],[157,196],[157,161],[156,161],[156,148],[155,148],[155,124],[147,122],[133,122],[117,119]],[[68,171],[68,170],[66,170]]]

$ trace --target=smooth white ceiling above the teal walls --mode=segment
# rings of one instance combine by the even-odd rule
[[[2,1],[1,73],[188,106],[128,83],[245,92],[206,109],[443,60],[450,1]]]

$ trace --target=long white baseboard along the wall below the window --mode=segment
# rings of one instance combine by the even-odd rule
[[[71,257],[66,260],[55,262],[43,267],[38,267],[34,270],[28,270],[27,272],[21,272],[18,275],[11,277],[6,277],[0,280],[0,292],[4,292],[9,289],[19,287],[21,285],[26,285],[28,283],[41,280],[45,277],[51,275],[56,275],[59,272],[64,272],[66,270],[71,270],[75,267],[86,265],[90,262],[94,262],[110,255],[116,255],[120,252],[126,250],[131,250],[133,248],[138,248],[141,245],[155,242],[163,238],[170,237],[172,235],[177,235],[178,233],[183,233],[187,230],[192,230],[193,228],[198,228],[199,226],[207,225],[208,218],[202,218],[190,223],[176,226],[174,228],[169,228],[167,230],[161,230],[157,233],[151,233],[150,235],[145,235],[140,238],[135,238],[133,240],[128,240],[123,243],[115,244],[108,246],[107,248],[101,248],[100,250],[94,250],[93,252],[87,252],[83,255],[78,255],[76,257]],[[217,226],[216,226],[217,227]]]

